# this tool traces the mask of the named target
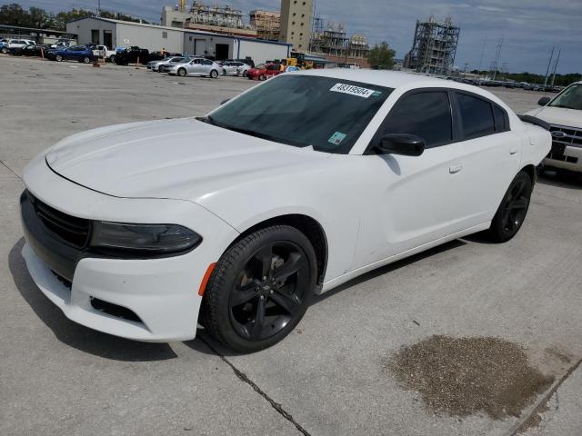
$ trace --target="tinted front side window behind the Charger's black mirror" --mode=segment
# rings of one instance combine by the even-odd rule
[[[453,140],[451,106],[446,91],[427,91],[400,98],[386,116],[380,134],[416,134],[426,148]]]

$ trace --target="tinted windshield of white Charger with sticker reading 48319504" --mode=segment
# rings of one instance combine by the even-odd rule
[[[392,91],[332,77],[281,75],[204,121],[277,143],[347,154]]]

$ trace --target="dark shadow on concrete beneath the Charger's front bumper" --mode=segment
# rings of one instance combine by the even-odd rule
[[[66,345],[95,356],[125,362],[165,361],[177,357],[167,343],[136,342],[118,338],[84,327],[65,317],[53,302],[45,297],[30,277],[21,255],[24,246],[21,238],[8,254],[8,267],[16,289],[36,316]]]

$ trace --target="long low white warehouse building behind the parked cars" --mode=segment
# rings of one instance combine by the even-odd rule
[[[66,32],[77,35],[79,44],[95,43],[109,47],[137,45],[150,52],[164,49],[172,53],[216,59],[250,57],[256,64],[283,59],[291,54],[291,45],[286,43],[95,16],[67,23]]]

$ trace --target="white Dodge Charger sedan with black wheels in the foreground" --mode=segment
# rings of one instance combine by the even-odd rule
[[[200,322],[254,352],[357,275],[469,233],[512,238],[550,144],[471,85],[281,74],[205,117],[98,128],[37,156],[23,255],[75,322],[150,342]]]

